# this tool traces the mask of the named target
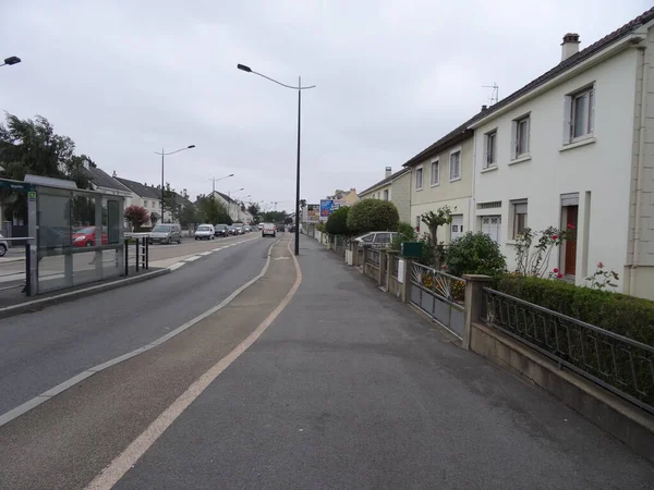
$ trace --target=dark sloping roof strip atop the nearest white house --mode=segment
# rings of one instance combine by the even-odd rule
[[[526,84],[524,87],[516,90],[510,96],[508,96],[508,97],[499,100],[495,105],[491,106],[486,111],[483,112],[484,118],[486,115],[489,115],[493,112],[501,109],[502,107],[508,106],[513,100],[516,100],[516,99],[522,97],[523,95],[530,93],[534,88],[540,87],[541,85],[544,85],[545,83],[547,83],[550,79],[557,77],[561,73],[564,73],[564,72],[570,70],[571,68],[580,64],[581,62],[588,60],[589,58],[591,58],[594,54],[598,53],[600,51],[602,51],[603,49],[605,49],[608,46],[613,45],[617,40],[619,40],[619,39],[628,36],[632,30],[637,29],[638,27],[646,24],[647,22],[650,22],[652,20],[654,20],[654,8],[647,10],[646,12],[643,12],[638,17],[629,21],[622,27],[614,30],[610,34],[607,34],[602,39],[600,39],[598,41],[592,44],[588,48],[582,49],[581,51],[572,54],[570,58],[567,58],[566,60],[561,61],[559,64],[557,64],[556,66],[554,66],[552,70],[543,73],[541,76],[538,76],[537,78],[533,79],[532,82],[530,82],[529,84]],[[474,122],[474,121],[472,121],[472,122]],[[471,124],[472,124],[472,122],[471,122]]]

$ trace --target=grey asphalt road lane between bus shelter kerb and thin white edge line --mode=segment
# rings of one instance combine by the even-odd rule
[[[250,238],[256,240],[160,278],[0,320],[0,414],[220,303],[259,273],[272,241],[250,234],[184,244],[182,252],[180,246],[161,246],[177,248],[178,255],[193,254]]]

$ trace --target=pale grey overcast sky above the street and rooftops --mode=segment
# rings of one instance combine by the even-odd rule
[[[101,4],[101,5],[100,5]],[[0,109],[46,117],[106,172],[292,209],[368,187],[488,103],[647,10],[640,0],[0,0]],[[244,187],[245,191],[234,193]]]

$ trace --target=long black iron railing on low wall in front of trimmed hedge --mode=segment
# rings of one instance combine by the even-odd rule
[[[654,414],[654,346],[484,287],[481,320]]]

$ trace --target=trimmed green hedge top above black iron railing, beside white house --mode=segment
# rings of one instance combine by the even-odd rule
[[[497,291],[654,345],[654,302],[538,278],[505,275]]]

